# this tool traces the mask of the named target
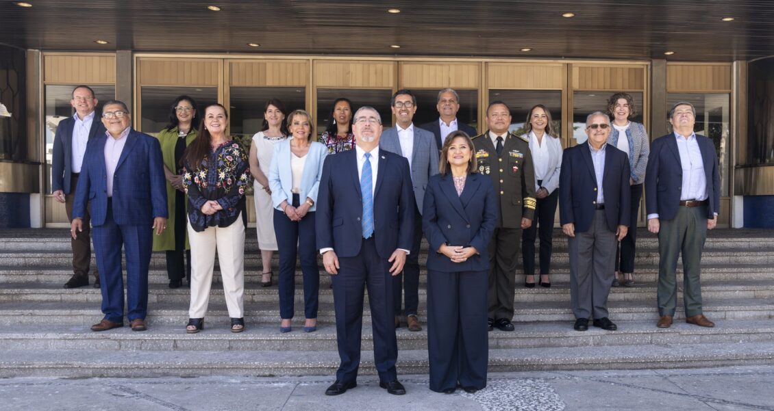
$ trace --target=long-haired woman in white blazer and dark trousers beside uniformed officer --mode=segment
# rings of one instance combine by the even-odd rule
[[[562,143],[551,123],[551,113],[538,104],[529,110],[524,135],[529,139],[535,168],[535,218],[522,233],[524,286],[535,287],[535,235],[540,236],[540,285],[551,287],[549,277],[553,251],[553,219],[559,200],[559,172],[562,168]]]

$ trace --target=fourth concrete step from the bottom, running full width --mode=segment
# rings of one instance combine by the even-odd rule
[[[681,283],[680,283],[681,284]],[[260,284],[245,284],[245,304],[254,302],[276,302],[278,287],[261,287]],[[682,292],[680,287],[679,293]],[[420,285],[420,304],[426,302],[425,284]],[[722,298],[774,298],[774,278],[771,280],[704,280],[702,295],[705,300]],[[680,297],[682,294],[680,294]],[[166,284],[150,284],[149,303],[183,303],[190,301],[190,289],[180,287],[170,289]],[[328,287],[320,287],[320,302],[333,303],[333,294]],[[609,301],[655,301],[656,283],[636,284],[634,287],[612,288]],[[59,284],[40,283],[3,283],[0,284],[0,301],[5,302],[61,302],[70,301],[94,302],[102,301],[101,291],[92,287],[61,288]],[[212,303],[224,303],[222,284],[213,284],[210,293]],[[368,297],[366,297],[368,301]],[[539,301],[560,301],[569,304],[570,287],[567,283],[553,284],[551,288],[516,287],[516,304]],[[296,304],[303,304],[303,289],[296,287]]]

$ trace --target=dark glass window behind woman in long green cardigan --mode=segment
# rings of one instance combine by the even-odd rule
[[[199,117],[204,107],[217,103],[217,87],[157,87],[146,86],[140,91],[140,129],[155,136],[170,124],[170,105],[183,94],[196,100]],[[198,127],[198,125],[197,125]]]

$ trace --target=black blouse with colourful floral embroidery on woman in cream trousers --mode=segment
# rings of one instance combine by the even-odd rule
[[[217,146],[199,164],[185,164],[183,187],[188,195],[188,217],[196,231],[210,226],[227,227],[244,212],[245,187],[250,168],[245,150],[234,141]],[[212,216],[201,212],[205,202],[215,200],[223,208]]]

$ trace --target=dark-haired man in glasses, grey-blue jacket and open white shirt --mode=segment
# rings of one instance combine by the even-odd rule
[[[411,182],[414,187],[414,236],[411,250],[406,256],[406,267],[393,277],[392,293],[395,301],[395,327],[400,327],[401,290],[406,279],[406,324],[409,331],[422,331],[416,311],[420,304],[420,243],[422,242],[422,205],[425,188],[431,175],[438,174],[438,148],[433,133],[415,127],[416,97],[410,90],[398,90],[390,100],[396,127],[385,130],[379,147],[402,155],[409,160]]]

